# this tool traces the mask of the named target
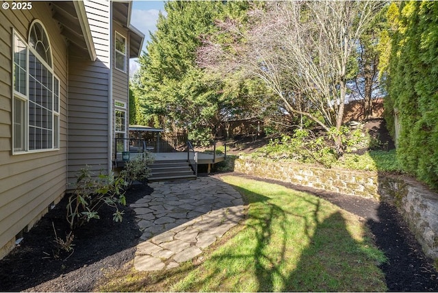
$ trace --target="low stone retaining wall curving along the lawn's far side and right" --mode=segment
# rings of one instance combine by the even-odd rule
[[[263,158],[239,157],[235,172],[274,179],[395,205],[422,245],[424,253],[438,262],[438,194],[412,179],[343,169],[326,169]]]

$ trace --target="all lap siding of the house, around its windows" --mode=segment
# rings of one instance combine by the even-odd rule
[[[0,259],[14,247],[16,235],[30,229],[52,203],[57,203],[73,188],[68,183],[76,181],[81,168],[88,165],[95,174],[111,170],[115,101],[126,104],[128,132],[129,33],[124,25],[112,20],[112,2],[83,1],[94,47],[92,54],[68,47],[69,41],[62,36],[64,24],[52,18],[56,11],[50,1],[31,4],[30,10],[0,10]],[[40,21],[47,31],[53,74],[60,81],[60,144],[58,149],[49,151],[13,151],[12,133],[17,127],[14,125],[24,125],[20,120],[13,123],[13,101],[14,96],[18,97],[12,90],[13,32],[27,42],[34,20]],[[112,66],[115,31],[126,38],[126,72]],[[90,56],[94,50],[96,60],[93,61]],[[38,78],[42,80],[44,75]],[[20,94],[27,95],[21,97],[26,103],[33,97],[36,104],[36,94]],[[42,94],[43,91],[41,97]],[[35,116],[33,111],[29,113]],[[54,110],[51,113],[58,115]],[[32,127],[36,129],[36,125]],[[44,139],[47,137],[50,138]]]

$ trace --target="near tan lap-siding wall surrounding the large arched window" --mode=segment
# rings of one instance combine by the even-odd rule
[[[0,10],[0,258],[66,190],[67,45],[48,2],[31,10]],[[12,155],[12,29],[27,42],[34,19],[44,25],[60,80],[60,149]]]

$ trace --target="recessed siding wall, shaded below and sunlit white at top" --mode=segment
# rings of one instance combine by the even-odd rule
[[[97,60],[70,55],[68,90],[68,181],[86,165],[110,170],[110,1],[84,1]]]

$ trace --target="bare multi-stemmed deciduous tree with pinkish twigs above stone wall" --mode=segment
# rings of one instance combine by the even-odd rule
[[[341,127],[348,64],[359,36],[381,9],[377,1],[268,1],[249,22],[218,22],[220,36],[204,40],[198,64],[223,74],[255,76],[276,93],[289,114],[307,116],[332,131],[344,153]]]

